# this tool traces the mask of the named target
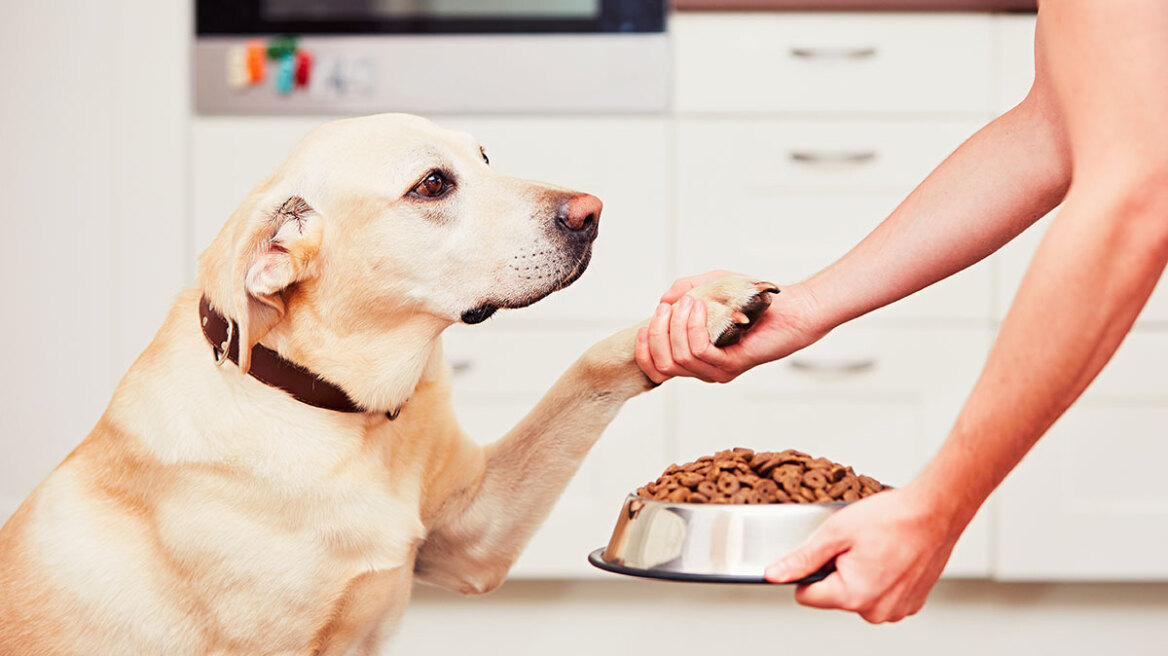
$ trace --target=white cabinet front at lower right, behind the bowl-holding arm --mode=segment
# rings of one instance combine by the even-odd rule
[[[999,490],[995,577],[1168,580],[1168,334],[1136,329]]]

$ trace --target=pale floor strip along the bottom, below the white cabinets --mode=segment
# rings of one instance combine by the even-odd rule
[[[790,588],[515,581],[485,598],[419,586],[384,654],[1168,654],[1168,584],[945,581],[872,627],[797,606]]]

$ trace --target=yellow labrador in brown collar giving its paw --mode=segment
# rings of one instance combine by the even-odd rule
[[[416,117],[314,130],[0,531],[0,654],[373,654],[415,577],[498,586],[652,384],[620,333],[484,448],[456,424],[439,335],[579,277],[599,214]],[[770,291],[693,294],[726,341]]]

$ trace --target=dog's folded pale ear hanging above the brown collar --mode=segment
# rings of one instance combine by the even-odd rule
[[[260,203],[236,240],[232,263],[239,330],[239,370],[251,348],[284,316],[284,293],[317,274],[322,221],[299,196]]]

